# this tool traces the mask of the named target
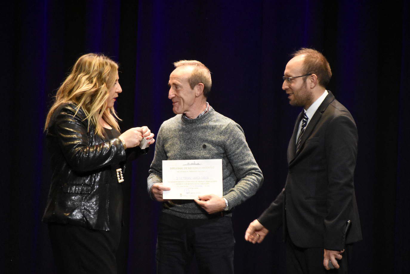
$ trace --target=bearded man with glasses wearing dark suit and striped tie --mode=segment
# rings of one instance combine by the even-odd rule
[[[326,273],[331,267],[337,269],[332,273],[347,273],[352,243],[362,239],[353,185],[357,129],[325,88],[332,76],[326,58],[309,48],[293,56],[282,89],[303,111],[287,150],[286,184],[245,239],[260,243],[283,224],[288,273]]]

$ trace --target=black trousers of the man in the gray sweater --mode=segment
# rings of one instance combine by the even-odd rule
[[[162,213],[158,221],[157,273],[188,273],[195,254],[200,274],[233,274],[232,218],[183,219]]]

